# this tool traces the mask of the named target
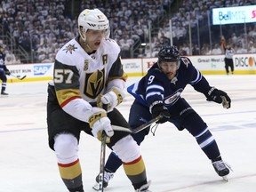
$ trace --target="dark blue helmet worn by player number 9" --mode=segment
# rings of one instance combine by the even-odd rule
[[[177,68],[180,68],[180,52],[178,48],[174,45],[164,45],[161,47],[160,51],[158,52],[158,65],[160,65],[162,61],[177,61]]]

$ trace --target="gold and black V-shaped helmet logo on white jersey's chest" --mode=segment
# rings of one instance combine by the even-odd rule
[[[105,68],[86,74],[84,83],[84,95],[92,99],[97,98],[105,84]]]

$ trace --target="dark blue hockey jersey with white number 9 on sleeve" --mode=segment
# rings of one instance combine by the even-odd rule
[[[180,68],[171,81],[155,63],[148,69],[148,74],[143,76],[140,82],[129,86],[127,91],[148,107],[156,100],[163,100],[164,105],[170,108],[180,99],[180,93],[187,84],[191,84],[197,92],[203,92],[205,97],[208,97],[211,86],[207,80],[187,57],[180,57]]]

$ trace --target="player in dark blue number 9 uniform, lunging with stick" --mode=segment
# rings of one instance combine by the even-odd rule
[[[226,180],[230,166],[222,161],[216,140],[204,120],[180,97],[187,84],[191,84],[197,92],[204,93],[206,100],[220,103],[223,108],[230,108],[231,100],[226,92],[210,86],[187,57],[180,57],[175,46],[164,45],[148,74],[127,89],[135,98],[130,109],[129,124],[136,128],[162,115],[163,118],[157,123],[170,122],[180,131],[187,129],[212,161],[214,170]],[[149,127],[132,137],[140,145],[148,132]],[[104,174],[105,187],[121,164],[115,152],[108,156]]]

